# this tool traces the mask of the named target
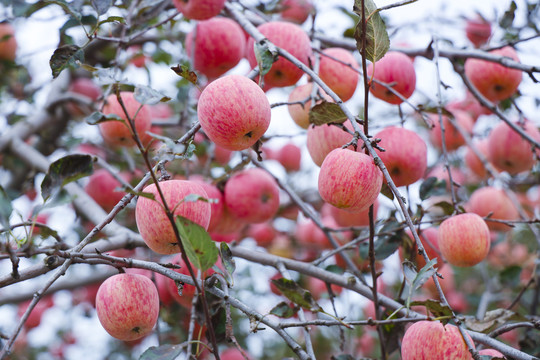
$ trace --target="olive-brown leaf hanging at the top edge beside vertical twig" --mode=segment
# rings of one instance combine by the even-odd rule
[[[377,10],[377,5],[373,0],[364,0],[366,15],[366,58],[371,62],[380,60],[390,48],[390,38],[386,31],[386,25]],[[354,38],[356,47],[362,53],[362,2],[355,0],[353,11],[360,16],[360,21],[356,24]]]

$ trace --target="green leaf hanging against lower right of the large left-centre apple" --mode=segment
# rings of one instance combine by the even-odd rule
[[[177,216],[175,222],[189,261],[202,271],[210,269],[218,257],[218,249],[210,235],[202,226],[185,217]]]

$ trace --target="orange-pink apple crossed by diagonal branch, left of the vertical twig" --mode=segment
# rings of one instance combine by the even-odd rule
[[[359,69],[359,65],[350,51],[342,48],[323,50],[319,63],[319,77],[343,101],[352,98],[358,85],[359,74],[351,67]]]

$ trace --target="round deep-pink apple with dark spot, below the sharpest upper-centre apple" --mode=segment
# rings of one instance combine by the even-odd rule
[[[234,174],[223,191],[228,210],[247,223],[272,219],[279,210],[279,187],[272,175],[259,168]]]

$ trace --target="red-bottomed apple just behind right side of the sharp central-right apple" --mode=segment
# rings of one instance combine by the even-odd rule
[[[424,176],[427,169],[427,145],[414,131],[391,126],[375,135],[381,139],[379,157],[396,186],[411,185]]]

